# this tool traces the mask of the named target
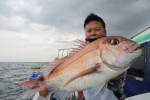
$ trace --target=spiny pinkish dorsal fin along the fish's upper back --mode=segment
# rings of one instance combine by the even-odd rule
[[[86,45],[89,44],[89,42],[84,42],[84,41],[81,41],[81,40],[77,40],[75,41],[77,43],[79,43],[78,45],[75,45],[75,46],[78,46],[77,48],[74,48],[72,51],[69,52],[69,54],[61,59],[58,59],[58,60],[54,60],[53,62],[50,62],[46,68],[44,69],[44,78],[47,78],[48,75],[52,72],[52,70],[59,66],[61,63],[63,63],[65,60],[69,59],[70,57],[72,57],[73,55],[75,55],[76,53],[78,53],[82,48],[84,48]]]

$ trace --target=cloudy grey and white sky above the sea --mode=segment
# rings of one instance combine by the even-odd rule
[[[58,49],[84,41],[90,13],[103,18],[107,36],[130,38],[150,26],[149,0],[0,0],[0,62],[53,61]]]

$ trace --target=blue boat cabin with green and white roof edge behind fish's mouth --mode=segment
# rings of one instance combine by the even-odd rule
[[[125,100],[150,100],[150,27],[131,39],[142,46],[143,52],[127,70]]]

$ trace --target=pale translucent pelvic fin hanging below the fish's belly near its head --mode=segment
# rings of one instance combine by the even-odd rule
[[[104,93],[104,91],[107,88],[108,82],[102,82],[100,85],[94,87],[94,90],[92,91],[92,97],[95,97],[99,92]]]

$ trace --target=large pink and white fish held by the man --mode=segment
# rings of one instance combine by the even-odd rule
[[[78,47],[69,55],[46,66],[43,81],[22,82],[30,88],[30,95],[45,85],[58,100],[71,100],[75,91],[92,87],[97,87],[95,96],[103,93],[108,81],[128,70],[142,53],[139,44],[122,36],[102,37],[92,43],[77,42]]]

